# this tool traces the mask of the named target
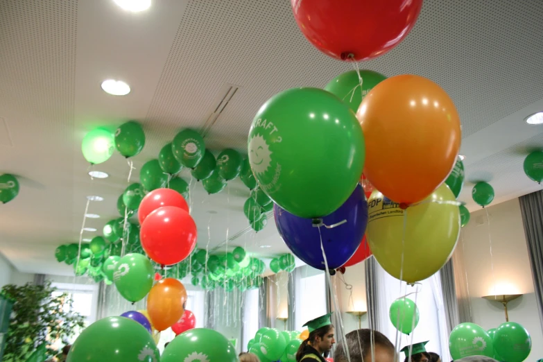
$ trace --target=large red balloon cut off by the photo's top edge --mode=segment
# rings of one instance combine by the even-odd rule
[[[377,58],[411,31],[422,0],[291,0],[307,40],[339,60]]]

